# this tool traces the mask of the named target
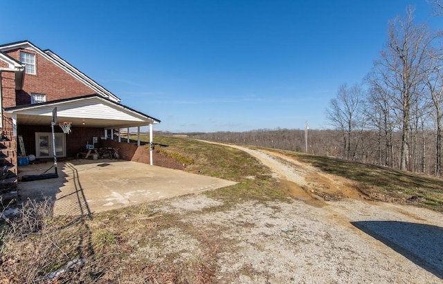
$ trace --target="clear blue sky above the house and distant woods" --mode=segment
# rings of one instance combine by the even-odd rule
[[[3,1],[0,44],[53,50],[156,130],[325,129],[408,5],[443,27],[426,0]]]

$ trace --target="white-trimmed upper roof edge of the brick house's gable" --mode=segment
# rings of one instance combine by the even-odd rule
[[[69,73],[75,79],[78,79],[83,84],[89,86],[94,91],[97,92],[98,95],[101,95],[102,97],[106,97],[109,100],[112,100],[114,102],[121,102],[120,98],[108,91],[106,88],[98,84],[96,81],[85,75],[84,73],[80,72],[77,68],[66,62],[64,59],[62,59],[60,56],[53,53],[51,50],[42,50],[32,44],[30,41],[16,41],[12,42],[10,44],[3,44],[0,45],[0,52],[1,51],[8,51],[8,50],[15,50],[17,48],[31,48],[35,50],[36,53],[41,55],[42,57],[48,59],[49,61],[53,62],[56,66],[60,67],[62,70],[64,70],[66,73]],[[17,60],[15,60],[17,61]]]

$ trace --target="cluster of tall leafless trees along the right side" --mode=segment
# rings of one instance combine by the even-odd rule
[[[361,84],[338,87],[326,118],[340,133],[343,158],[367,153],[379,165],[441,176],[443,33],[415,23],[413,12],[389,21],[372,70]]]

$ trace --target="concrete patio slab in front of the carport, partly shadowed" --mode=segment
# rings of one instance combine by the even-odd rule
[[[19,167],[19,180],[48,169],[48,173],[54,173],[51,165]],[[77,216],[235,184],[220,178],[116,160],[60,162],[57,172],[58,178],[19,182],[21,200],[47,196],[54,201],[54,216]]]

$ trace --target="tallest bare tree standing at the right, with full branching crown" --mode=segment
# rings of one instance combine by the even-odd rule
[[[415,25],[413,8],[406,10],[406,17],[395,18],[389,23],[388,44],[381,51],[381,59],[374,63],[374,73],[383,93],[390,95],[390,104],[400,121],[401,170],[410,171],[411,111],[418,102],[426,73],[422,64],[428,56],[433,37],[424,25]]]

